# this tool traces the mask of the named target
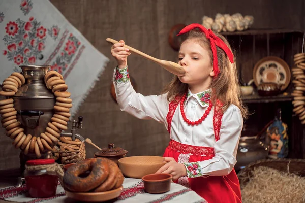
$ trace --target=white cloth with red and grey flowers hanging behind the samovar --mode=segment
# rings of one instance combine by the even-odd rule
[[[19,65],[52,65],[71,92],[73,115],[109,59],[48,0],[0,0],[0,61],[0,84]]]

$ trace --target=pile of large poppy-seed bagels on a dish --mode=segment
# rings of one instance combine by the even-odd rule
[[[81,177],[86,171],[89,175]],[[107,158],[82,160],[68,168],[64,188],[72,192],[105,192],[122,186],[124,176],[117,164]]]

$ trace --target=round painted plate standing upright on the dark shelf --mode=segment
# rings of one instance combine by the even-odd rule
[[[261,83],[282,84],[281,90],[288,87],[291,79],[288,64],[276,56],[267,56],[259,60],[253,69],[253,79],[255,85]]]

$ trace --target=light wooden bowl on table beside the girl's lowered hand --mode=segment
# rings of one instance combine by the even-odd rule
[[[156,173],[165,164],[161,156],[130,156],[118,160],[118,166],[124,176],[138,179]]]

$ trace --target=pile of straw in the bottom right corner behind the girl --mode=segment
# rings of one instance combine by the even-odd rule
[[[305,202],[305,177],[259,166],[240,181],[244,203]]]

